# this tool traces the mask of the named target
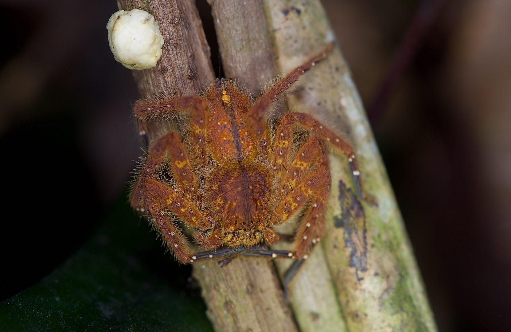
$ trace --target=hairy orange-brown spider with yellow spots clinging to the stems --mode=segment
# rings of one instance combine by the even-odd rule
[[[130,194],[131,205],[146,213],[179,262],[245,250],[307,258],[324,232],[331,185],[327,146],[346,154],[362,194],[355,154],[345,140],[305,113],[267,120],[273,102],[332,49],[333,44],[277,79],[257,100],[235,82],[217,79],[202,97],[135,103],[142,127],[188,115],[184,140],[170,131],[150,146]],[[297,128],[306,134],[296,135]],[[279,236],[272,228],[300,211],[292,252],[258,247],[273,245]],[[193,254],[179,222],[195,228],[196,244],[209,251]]]

